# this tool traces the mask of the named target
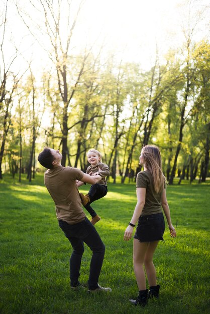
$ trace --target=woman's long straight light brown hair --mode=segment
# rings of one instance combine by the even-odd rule
[[[142,148],[144,165],[147,171],[151,174],[155,192],[163,191],[166,178],[162,172],[162,161],[160,149],[156,145],[145,145]]]

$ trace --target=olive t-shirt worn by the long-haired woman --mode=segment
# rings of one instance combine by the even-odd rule
[[[142,216],[161,213],[162,192],[156,193],[152,182],[152,176],[148,171],[141,171],[136,178],[136,187],[146,189],[145,205]]]

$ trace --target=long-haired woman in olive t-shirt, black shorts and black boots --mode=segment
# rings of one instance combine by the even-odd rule
[[[134,272],[139,288],[136,300],[130,300],[134,305],[145,306],[147,299],[158,297],[160,286],[156,282],[156,270],[153,264],[153,254],[160,240],[163,240],[165,230],[163,208],[171,237],[176,236],[176,231],[171,223],[170,210],[166,199],[166,179],[162,172],[160,150],[155,145],[146,145],[142,148],[140,165],[144,171],[137,175],[137,204],[133,217],[127,227],[124,240],[132,237],[135,224],[138,226],[134,235],[133,262]],[[146,289],[145,266],[149,292]]]

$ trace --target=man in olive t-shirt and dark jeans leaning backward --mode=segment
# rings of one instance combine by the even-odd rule
[[[70,285],[72,289],[81,287],[79,270],[85,242],[92,251],[88,291],[111,292],[111,288],[98,285],[105,246],[97,231],[85,216],[76,186],[76,180],[96,184],[101,180],[99,175],[89,176],[81,170],[61,166],[62,154],[59,150],[45,147],[38,156],[39,163],[48,170],[44,175],[45,186],[56,206],[58,224],[70,241],[73,252],[70,257]]]

